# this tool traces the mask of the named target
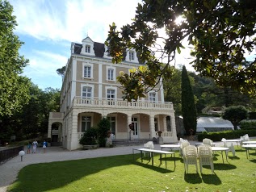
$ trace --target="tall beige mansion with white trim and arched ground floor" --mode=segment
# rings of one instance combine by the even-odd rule
[[[120,71],[129,73],[139,65],[143,64],[133,49],[127,49],[123,62],[116,65],[112,64],[107,47],[90,37],[82,44],[71,43],[61,87],[61,110],[50,113],[48,137],[69,150],[81,148],[79,140],[84,131],[107,117],[115,140],[153,139],[157,131],[162,131],[165,143],[177,142],[174,108],[172,102],[164,101],[162,80],[146,98],[136,102],[122,99],[116,77]],[[134,131],[129,124],[133,124]]]

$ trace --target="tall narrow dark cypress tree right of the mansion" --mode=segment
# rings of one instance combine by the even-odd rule
[[[182,113],[183,113],[183,123],[187,135],[196,131],[196,110],[195,110],[195,100],[194,94],[191,87],[191,82],[187,75],[187,69],[183,65],[182,72]]]

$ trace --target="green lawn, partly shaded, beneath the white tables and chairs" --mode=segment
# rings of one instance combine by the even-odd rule
[[[97,149],[96,149],[97,150]],[[228,162],[222,163],[219,153],[214,157],[214,171],[204,166],[203,174],[196,173],[195,165],[189,165],[184,173],[183,160],[176,152],[174,159],[166,157],[160,165],[159,156],[154,166],[149,158],[141,163],[140,154],[99,157],[78,161],[60,161],[27,165],[19,172],[9,192],[26,191],[241,191],[256,189],[256,152],[236,148],[236,157],[229,152]]]

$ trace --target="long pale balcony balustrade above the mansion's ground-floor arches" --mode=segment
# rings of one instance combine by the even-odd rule
[[[83,107],[104,107],[104,108],[120,108],[120,109],[147,109],[147,110],[174,110],[172,102],[148,102],[136,101],[127,102],[122,99],[108,100],[107,98],[73,98],[73,106]]]

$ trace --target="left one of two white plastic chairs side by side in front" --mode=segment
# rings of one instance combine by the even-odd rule
[[[197,148],[194,145],[188,145],[187,147],[183,148],[183,161],[186,173],[188,173],[188,165],[195,165],[196,173],[198,173]]]

